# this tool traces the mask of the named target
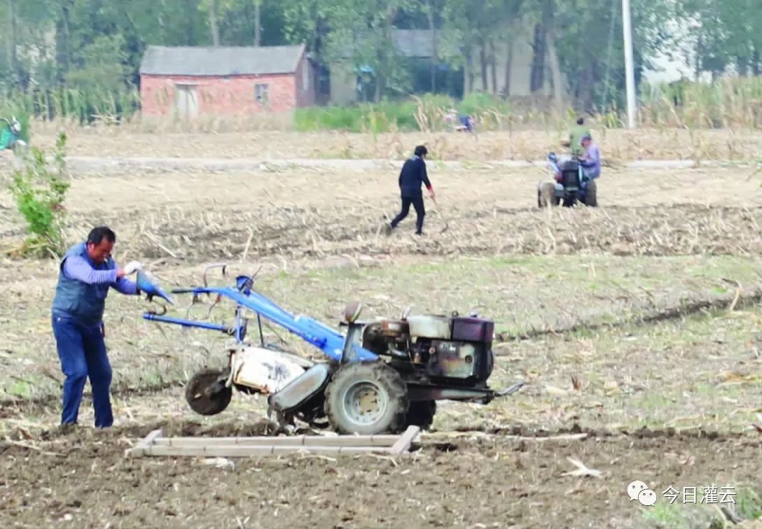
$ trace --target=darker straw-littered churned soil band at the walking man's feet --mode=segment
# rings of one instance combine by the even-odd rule
[[[72,231],[87,224],[72,215]],[[366,209],[229,209],[216,216],[166,215],[155,225],[145,212],[97,215],[120,227],[120,251],[146,259],[203,263],[239,258],[286,260],[349,253],[370,256],[609,253],[616,256],[741,255],[762,253],[762,209],[702,206],[556,210],[450,209],[427,215],[425,237],[411,223],[392,237],[386,218]],[[447,229],[444,229],[447,228]]]

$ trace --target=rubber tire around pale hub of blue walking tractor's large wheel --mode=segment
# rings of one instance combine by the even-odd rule
[[[387,407],[376,422],[361,425],[344,414],[344,394],[354,384],[370,381],[386,393]],[[408,391],[405,381],[393,368],[382,362],[354,362],[335,372],[325,388],[325,415],[331,427],[344,435],[399,434],[405,429],[408,415]]]

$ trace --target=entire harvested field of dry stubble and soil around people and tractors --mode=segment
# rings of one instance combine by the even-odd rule
[[[56,263],[5,258],[0,524],[722,527],[732,520],[753,527],[762,509],[759,177],[742,165],[623,166],[680,152],[697,158],[697,145],[714,149],[705,159],[749,161],[762,143],[751,132],[735,143],[728,135],[608,132],[604,157],[621,163],[604,170],[601,207],[540,211],[541,169],[489,166],[541,157],[555,139],[540,132],[71,132],[72,157],[179,158],[129,170],[104,158],[72,174],[70,241],[107,223],[117,231],[117,260],[142,261],[167,288],[198,284],[207,263],[226,261],[232,273],[261,266],[262,292],[331,325],[353,299],[371,317],[408,305],[476,310],[496,322],[491,385],[527,385],[488,406],[444,403],[407,459],[293,455],[232,467],[126,459],[124,449],[157,427],[165,435],[257,435],[264,400],[236,394],[221,415],[194,415],[182,384],[201,365],[224,362],[226,339],[142,320],[146,301],[113,292],[106,330],[117,423],[91,429],[86,394],[82,426],[57,431],[62,374],[49,316]],[[51,145],[53,136],[36,141]],[[413,236],[411,212],[386,237],[381,226],[399,207],[399,164],[419,142],[434,146],[438,159],[474,163],[431,161],[439,207],[427,201],[426,236]],[[210,171],[183,169],[182,157],[392,164]],[[0,244],[17,246],[23,223],[5,192],[0,218]],[[178,301],[184,315],[190,300]],[[226,309],[214,317],[229,320]],[[315,353],[283,330],[267,334]],[[569,432],[586,435],[558,438]],[[645,508],[626,495],[634,480],[658,493],[735,486],[736,502],[669,505],[660,496]]]

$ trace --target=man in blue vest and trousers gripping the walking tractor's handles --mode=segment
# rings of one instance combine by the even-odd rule
[[[94,228],[85,242],[66,251],[60,265],[53,298],[53,334],[66,375],[63,383],[61,424],[76,424],[85,381],[90,378],[95,426],[108,428],[114,422],[109,396],[111,365],[104,343],[103,312],[108,289],[139,295],[137,285],[126,279],[140,268],[132,261],[120,269],[111,258],[117,240],[114,231]]]

